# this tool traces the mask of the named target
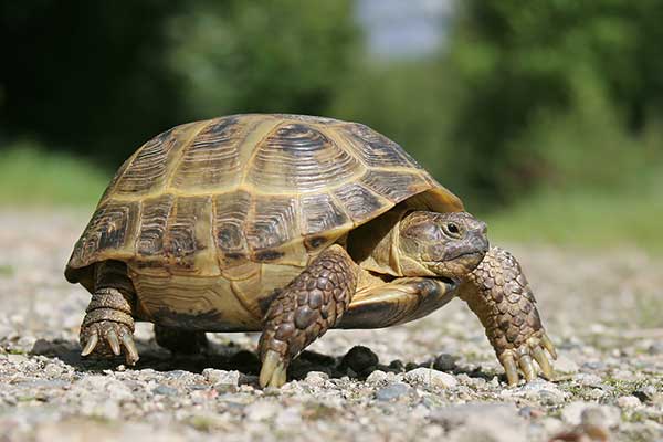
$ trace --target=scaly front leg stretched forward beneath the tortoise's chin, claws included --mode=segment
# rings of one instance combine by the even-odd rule
[[[534,379],[532,358],[546,378],[552,377],[544,349],[556,359],[555,347],[541,325],[532,288],[511,253],[492,248],[461,285],[459,296],[485,327],[509,385],[518,383],[518,367],[526,380]]]

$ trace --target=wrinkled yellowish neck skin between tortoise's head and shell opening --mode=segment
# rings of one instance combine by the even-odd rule
[[[391,229],[377,243],[370,254],[358,262],[361,269],[396,277],[439,276],[419,262],[404,256],[400,252],[400,223],[407,214],[407,210],[389,214],[391,218],[389,221],[393,223]]]

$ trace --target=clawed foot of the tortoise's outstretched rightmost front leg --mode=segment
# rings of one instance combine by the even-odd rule
[[[552,379],[552,365],[548,355],[552,359],[557,359],[557,351],[548,335],[541,329],[533,334],[523,345],[515,348],[505,349],[498,352],[497,357],[504,367],[506,380],[509,386],[515,386],[519,381],[518,368],[523,371],[526,381],[530,381],[536,377],[536,366],[540,367],[541,375],[550,380]]]

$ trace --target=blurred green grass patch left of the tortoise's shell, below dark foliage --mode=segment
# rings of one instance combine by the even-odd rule
[[[109,180],[106,171],[83,159],[32,144],[13,145],[0,161],[0,206],[94,208]]]

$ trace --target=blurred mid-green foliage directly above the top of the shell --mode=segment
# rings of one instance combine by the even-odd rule
[[[352,1],[201,0],[168,23],[191,118],[325,114],[355,61]]]

